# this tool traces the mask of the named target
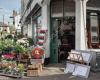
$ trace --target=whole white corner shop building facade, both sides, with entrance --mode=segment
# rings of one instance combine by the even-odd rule
[[[99,0],[33,0],[22,17],[23,33],[37,44],[37,30],[46,31],[45,57],[66,59],[71,49],[99,50]]]

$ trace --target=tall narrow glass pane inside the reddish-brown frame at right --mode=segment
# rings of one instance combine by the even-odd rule
[[[98,27],[98,16],[91,15],[90,17],[90,26],[91,26],[91,40],[92,43],[99,43],[99,27]]]

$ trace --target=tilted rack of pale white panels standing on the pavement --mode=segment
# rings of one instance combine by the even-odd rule
[[[72,73],[74,76],[88,78],[90,72],[90,52],[74,50],[69,52],[65,73]]]

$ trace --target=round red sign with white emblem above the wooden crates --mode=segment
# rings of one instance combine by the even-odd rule
[[[33,51],[32,51],[32,56],[35,58],[35,59],[40,59],[42,58],[44,54],[44,50],[40,47],[36,47]]]

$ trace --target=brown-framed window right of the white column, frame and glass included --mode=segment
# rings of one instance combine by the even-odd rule
[[[88,47],[100,48],[100,12],[87,12]]]

